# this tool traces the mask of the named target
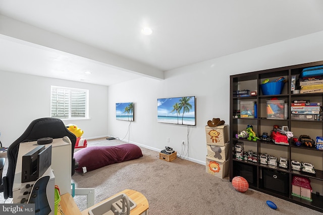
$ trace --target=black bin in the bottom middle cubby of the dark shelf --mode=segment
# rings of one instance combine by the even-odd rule
[[[285,194],[288,193],[288,190],[289,190],[288,173],[263,168],[262,180],[263,180],[263,188],[275,190]]]

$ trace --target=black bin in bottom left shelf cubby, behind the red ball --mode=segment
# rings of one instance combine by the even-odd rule
[[[253,184],[257,181],[257,167],[254,165],[234,162],[234,175],[245,178],[249,183]]]

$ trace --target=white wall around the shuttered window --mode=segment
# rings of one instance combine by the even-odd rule
[[[8,147],[37,118],[50,117],[50,86],[89,90],[89,117],[64,120],[84,130],[85,138],[107,135],[107,87],[0,71],[0,140]]]

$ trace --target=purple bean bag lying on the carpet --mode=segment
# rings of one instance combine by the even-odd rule
[[[79,164],[75,171],[84,172],[83,167],[85,167],[88,172],[140,157],[142,157],[141,149],[134,144],[87,147],[74,153],[75,161]]]

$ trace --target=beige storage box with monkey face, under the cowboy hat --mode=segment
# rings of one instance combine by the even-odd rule
[[[219,125],[216,127],[205,126],[206,144],[224,146],[229,141],[228,130],[228,125]]]

